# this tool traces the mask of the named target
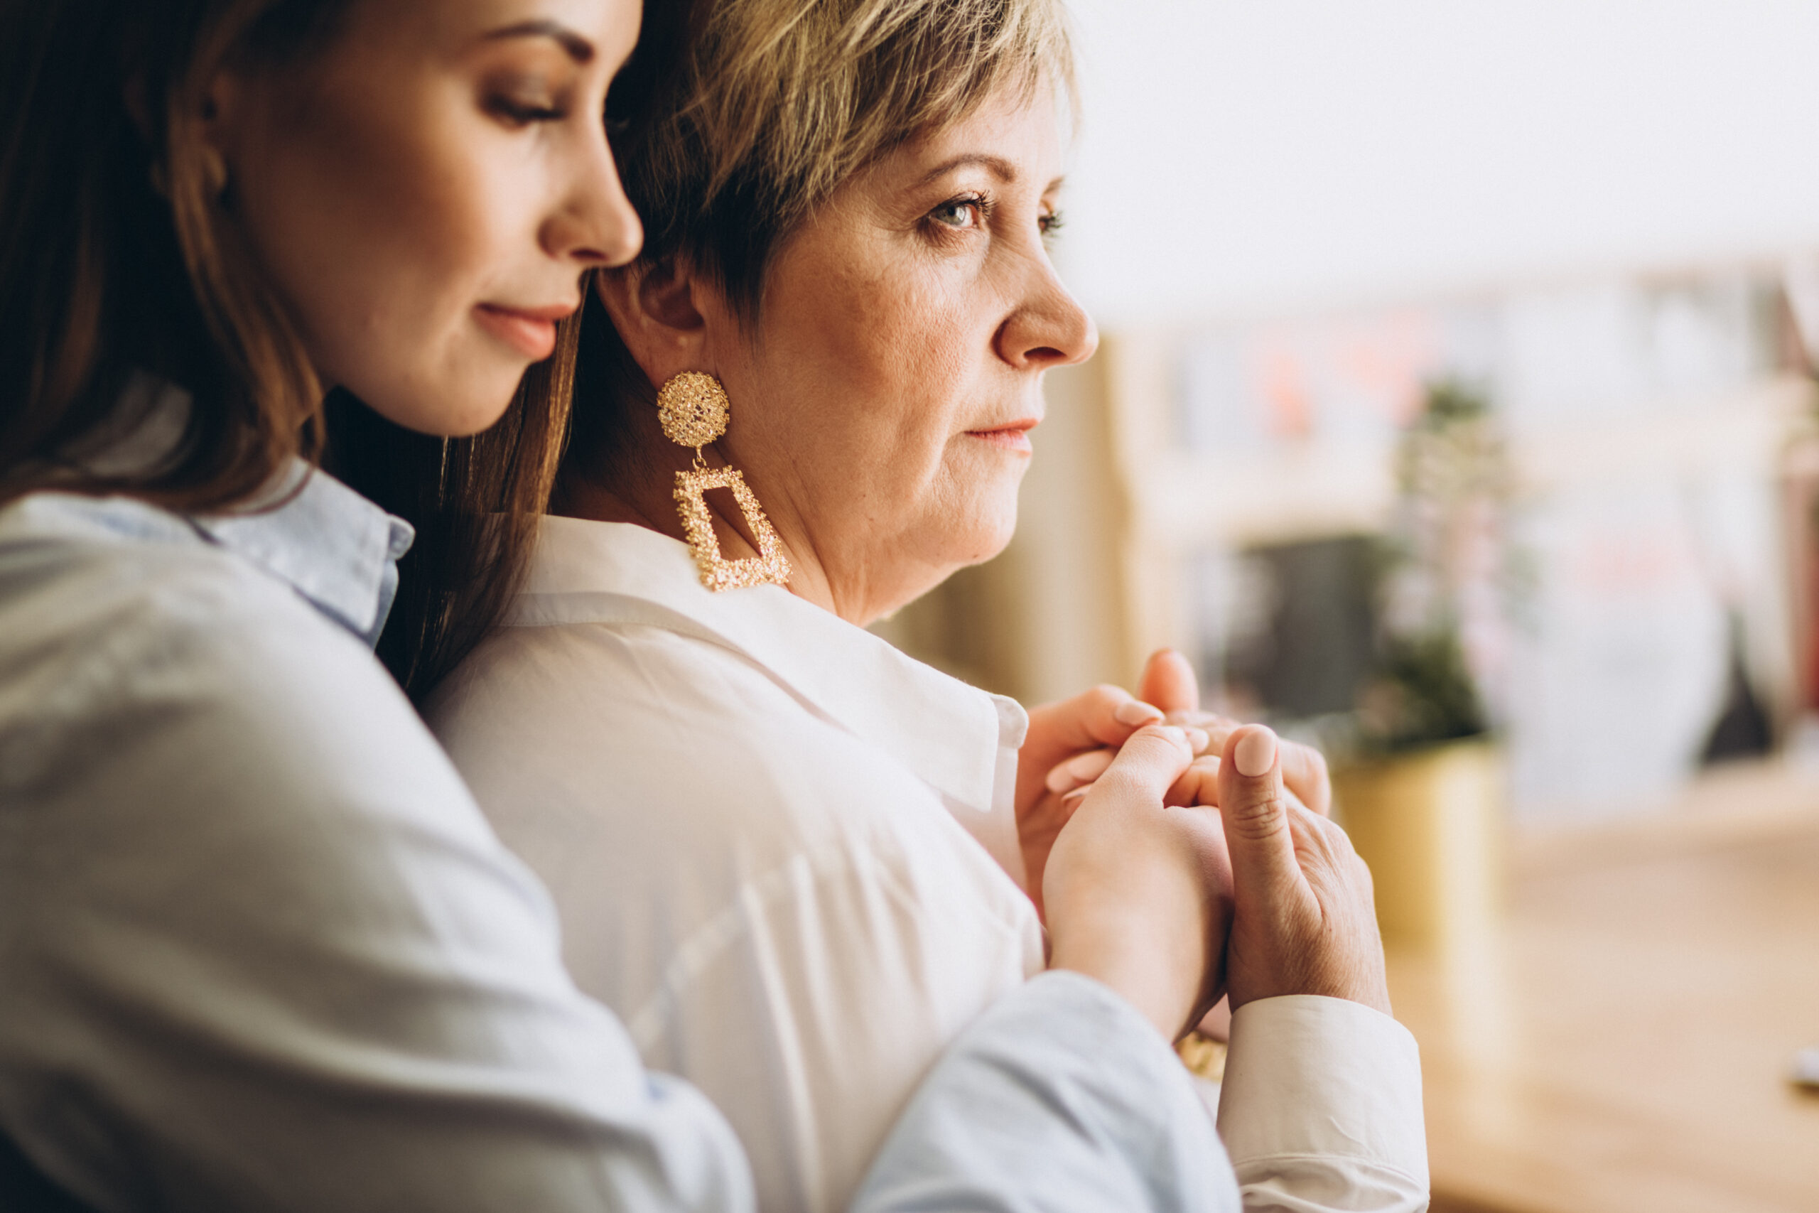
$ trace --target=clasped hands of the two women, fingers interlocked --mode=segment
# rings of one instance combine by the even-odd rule
[[[1170,1038],[1224,991],[1233,1009],[1299,993],[1388,1011],[1370,871],[1324,815],[1321,755],[1201,713],[1175,653],[1141,695],[1031,711],[1019,835],[1051,967],[1106,982]]]

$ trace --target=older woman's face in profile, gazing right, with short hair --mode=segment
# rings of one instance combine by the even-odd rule
[[[1050,264],[1059,184],[1050,95],[1000,96],[788,235],[753,327],[709,326],[722,449],[848,620],[1010,542],[1042,373],[1099,342]]]

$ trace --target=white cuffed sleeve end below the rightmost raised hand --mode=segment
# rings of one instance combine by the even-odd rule
[[[1428,1208],[1421,1053],[1344,998],[1259,998],[1231,1017],[1219,1133],[1246,1209]]]

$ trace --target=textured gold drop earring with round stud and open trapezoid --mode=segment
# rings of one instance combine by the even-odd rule
[[[695,467],[677,473],[677,513],[682,516],[689,551],[695,553],[700,584],[715,593],[744,586],[786,586],[789,556],[744,473],[737,467],[708,467],[700,458],[700,449],[726,433],[726,387],[713,375],[684,371],[657,393],[657,420],[662,422],[664,435],[677,446],[695,447]],[[708,513],[708,489],[733,491],[751,538],[759,540],[757,556],[728,560],[720,555],[720,538],[713,533],[713,516]]]

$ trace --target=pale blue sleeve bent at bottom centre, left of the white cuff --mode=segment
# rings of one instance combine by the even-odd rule
[[[1051,971],[942,1057],[853,1213],[1235,1213],[1237,1180],[1188,1071],[1115,993]]]

